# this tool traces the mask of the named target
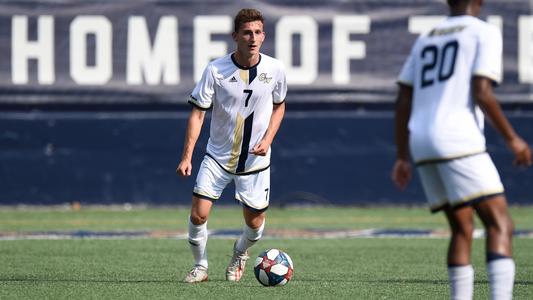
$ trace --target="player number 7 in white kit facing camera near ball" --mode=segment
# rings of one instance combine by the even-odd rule
[[[205,111],[212,109],[212,117],[188,225],[195,263],[184,282],[208,278],[207,219],[213,202],[231,181],[235,182],[235,198],[243,206],[245,225],[233,247],[227,280],[241,279],[247,250],[264,230],[270,196],[270,145],[285,114],[287,84],[282,63],[259,52],[265,39],[263,23],[255,9],[238,12],[232,33],[236,50],[209,63],[189,100],[193,108],[178,174],[191,175]]]

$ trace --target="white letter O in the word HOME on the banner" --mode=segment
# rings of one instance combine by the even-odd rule
[[[87,63],[87,36],[95,37],[95,64]],[[113,76],[112,26],[104,16],[78,16],[70,24],[70,76],[82,85],[106,84]]]

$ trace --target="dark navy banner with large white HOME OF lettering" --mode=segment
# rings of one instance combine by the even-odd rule
[[[482,10],[503,33],[503,102],[533,102],[532,6]],[[285,63],[294,102],[392,102],[412,43],[447,13],[443,0],[2,1],[0,104],[185,104],[234,49],[243,7],[264,14],[262,51]]]

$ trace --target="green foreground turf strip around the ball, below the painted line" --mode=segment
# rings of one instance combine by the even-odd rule
[[[233,241],[208,243],[210,281],[180,279],[192,264],[183,240],[0,243],[0,299],[447,299],[443,239],[263,240],[243,280],[224,280]],[[533,240],[515,241],[514,299],[533,298]],[[475,299],[488,299],[483,240],[474,241]],[[281,248],[295,266],[285,287],[262,287],[255,255]]]

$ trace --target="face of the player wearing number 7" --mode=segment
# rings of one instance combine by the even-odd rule
[[[239,31],[233,33],[233,40],[237,43],[237,51],[242,55],[247,57],[258,55],[265,40],[263,23],[253,21],[242,24]]]

